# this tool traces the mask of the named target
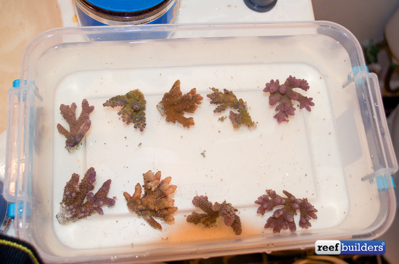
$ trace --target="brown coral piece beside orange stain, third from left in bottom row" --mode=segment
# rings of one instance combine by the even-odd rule
[[[196,196],[193,199],[193,204],[199,207],[205,214],[193,212],[187,216],[187,222],[199,224],[201,223],[205,227],[213,226],[219,216],[224,218],[224,224],[231,227],[235,235],[240,235],[242,232],[241,221],[238,215],[235,214],[238,210],[231,206],[230,203],[224,201],[219,204],[215,202],[213,205],[208,201],[207,196]]]

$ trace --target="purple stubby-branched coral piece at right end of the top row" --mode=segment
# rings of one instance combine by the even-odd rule
[[[278,80],[275,82],[271,80],[269,83],[266,83],[266,87],[263,89],[263,92],[270,93],[269,104],[271,106],[280,102],[275,109],[278,113],[274,115],[278,123],[288,121],[288,116],[295,115],[295,108],[292,100],[299,102],[299,109],[305,108],[309,112],[311,111],[310,107],[315,105],[312,102],[313,98],[307,98],[295,92],[293,90],[294,88],[307,91],[309,89],[309,84],[306,80],[296,79],[290,75],[283,85],[280,85]]]

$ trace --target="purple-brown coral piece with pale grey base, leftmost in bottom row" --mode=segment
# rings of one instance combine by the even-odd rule
[[[56,215],[61,225],[75,222],[96,212],[102,215],[104,214],[103,209],[101,209],[102,206],[110,207],[115,204],[114,199],[107,197],[111,180],[105,181],[94,194],[90,191],[94,189],[93,183],[95,181],[96,171],[93,167],[86,171],[80,183],[79,174],[72,174],[71,179],[65,185],[61,208]]]

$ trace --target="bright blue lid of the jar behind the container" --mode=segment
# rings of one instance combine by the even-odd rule
[[[89,3],[109,11],[135,12],[142,11],[164,0],[87,0]]]

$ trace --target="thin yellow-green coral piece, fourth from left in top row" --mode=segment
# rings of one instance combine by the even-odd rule
[[[233,124],[234,129],[238,129],[241,124],[246,125],[248,128],[254,127],[255,122],[252,122],[251,117],[248,114],[246,103],[240,99],[237,100],[237,97],[233,94],[232,91],[228,91],[224,89],[223,93],[219,92],[216,88],[211,88],[213,93],[206,95],[210,99],[210,104],[219,105],[213,110],[213,113],[221,113],[227,109],[227,107],[231,107],[232,109],[238,110],[238,114],[230,111],[230,121]],[[223,121],[223,119],[220,119]]]

